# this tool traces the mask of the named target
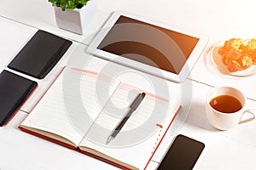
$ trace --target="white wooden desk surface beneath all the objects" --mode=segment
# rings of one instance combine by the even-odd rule
[[[181,99],[183,105],[183,110],[170,132],[166,134],[148,169],[157,167],[178,133],[206,144],[194,169],[255,169],[256,121],[239,125],[229,131],[218,131],[207,122],[205,98],[214,86],[234,86],[246,94],[247,107],[256,110],[255,75],[240,78],[224,77],[206,65],[207,51],[215,42],[230,37],[256,37],[256,24],[253,20],[256,15],[256,1],[98,0],[97,3],[96,22],[90,31],[79,36],[55,26],[54,10],[47,0],[0,0],[0,71],[7,69],[9,61],[38,29],[73,40],[72,47],[49,76],[42,81],[37,80],[39,88],[32,98],[8,126],[0,127],[0,169],[118,169],[90,156],[21,132],[17,128],[70,58],[90,59],[88,67],[96,71],[102,71],[106,65],[113,69],[125,70],[128,73],[117,78],[141,88],[150,88],[150,85],[133,78],[137,71],[84,54],[84,48],[87,48],[96,31],[114,10],[125,10],[166,24],[200,31],[210,38],[207,48],[192,69],[189,80],[183,84],[165,82],[141,73],[143,77],[149,77],[155,83],[167,83],[171,95]],[[191,98],[189,93],[192,93]]]

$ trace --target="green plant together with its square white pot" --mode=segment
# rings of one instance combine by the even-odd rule
[[[96,0],[49,0],[59,28],[84,34],[96,20]]]

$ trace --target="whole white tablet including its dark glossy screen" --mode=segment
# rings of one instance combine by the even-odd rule
[[[88,51],[157,77],[183,82],[207,41],[206,36],[194,31],[116,11]]]

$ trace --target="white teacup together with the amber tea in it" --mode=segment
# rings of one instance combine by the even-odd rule
[[[207,118],[213,127],[228,130],[255,119],[255,111],[245,108],[246,98],[236,88],[213,88],[207,94]],[[245,114],[250,116],[243,119]]]

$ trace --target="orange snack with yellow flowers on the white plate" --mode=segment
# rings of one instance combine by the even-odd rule
[[[218,49],[230,72],[242,71],[256,64],[256,39],[231,38]]]

